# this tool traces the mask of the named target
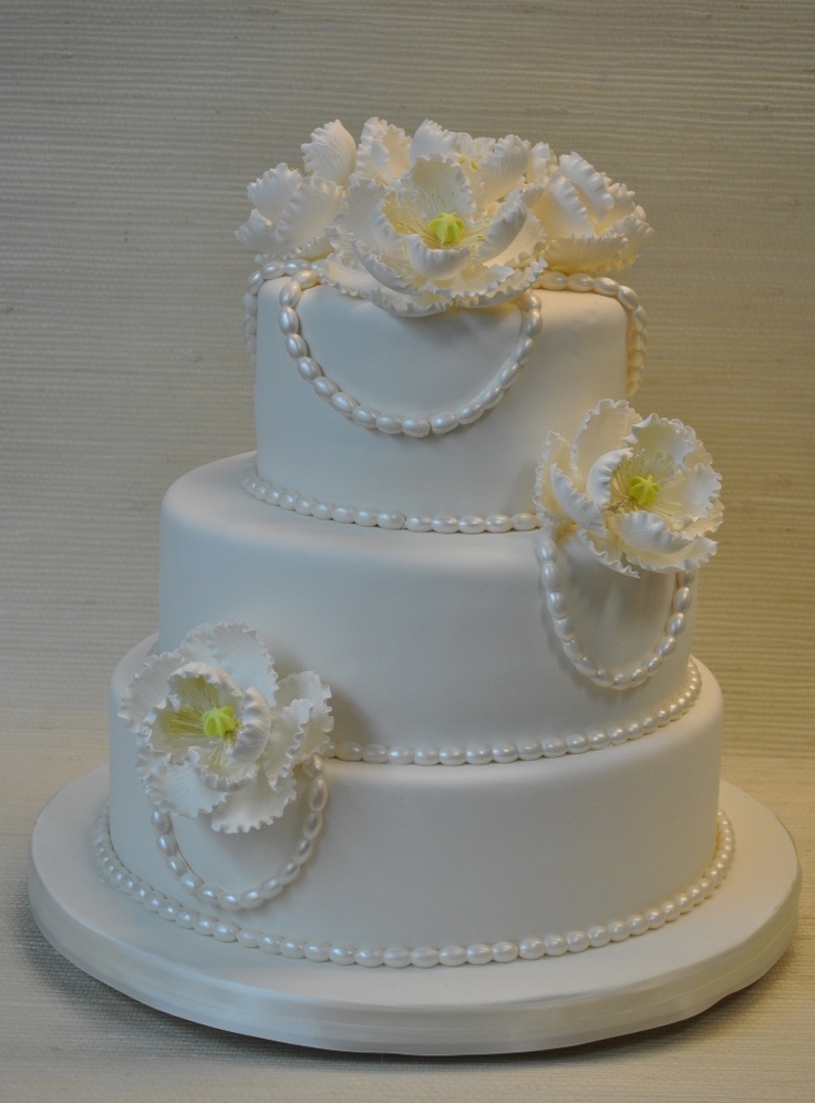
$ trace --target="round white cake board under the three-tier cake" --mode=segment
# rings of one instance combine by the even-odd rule
[[[735,860],[713,896],[640,937],[507,965],[369,969],[270,957],[147,911],[107,884],[91,834],[100,767],[40,814],[29,891],[70,961],[169,1014],[298,1045],[417,1055],[513,1053],[597,1041],[705,1010],[761,977],[793,937],[799,867],[771,812],[722,784]]]

